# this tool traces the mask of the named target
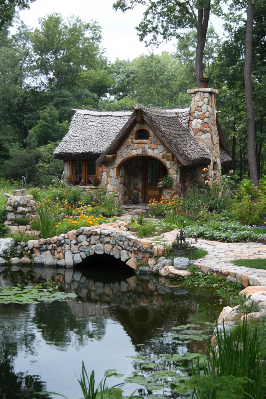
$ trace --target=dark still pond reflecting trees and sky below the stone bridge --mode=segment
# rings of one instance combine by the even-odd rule
[[[124,374],[109,377],[109,387],[132,372],[145,376],[145,385],[138,379],[127,382],[124,395],[137,389],[136,394],[149,398],[180,397],[166,386],[167,375],[159,380],[151,376],[156,370],[185,370],[184,360],[167,356],[204,350],[211,323],[223,308],[213,290],[136,276],[108,256],[91,257],[74,269],[14,269],[1,267],[0,286],[36,285],[51,278],[59,290],[78,296],[0,304],[0,399],[39,398],[33,392],[41,390],[81,397],[77,377],[82,361],[88,373],[95,371],[97,383],[107,369]]]

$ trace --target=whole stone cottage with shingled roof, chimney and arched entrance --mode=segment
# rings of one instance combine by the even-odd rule
[[[221,179],[230,151],[216,114],[217,89],[188,90],[191,107],[154,109],[136,105],[132,111],[75,110],[69,132],[55,149],[64,160],[65,176],[79,177],[82,186],[100,177],[107,193],[121,205],[132,194],[147,203],[162,196],[182,195],[195,182]],[[158,188],[160,178],[173,186]]]

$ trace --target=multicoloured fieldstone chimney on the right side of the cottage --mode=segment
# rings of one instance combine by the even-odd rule
[[[216,126],[216,95],[217,89],[193,89],[187,93],[192,95],[189,130],[194,134],[201,148],[211,158],[209,170],[205,179],[221,180],[221,162],[219,136]],[[213,174],[215,172],[215,174]]]

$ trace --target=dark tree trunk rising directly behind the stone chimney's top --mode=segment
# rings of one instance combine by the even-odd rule
[[[198,21],[197,21],[197,48],[195,56],[195,77],[197,78],[198,87],[200,86],[199,78],[203,77],[203,51],[205,47],[205,41],[207,36],[207,29],[209,24],[209,16],[211,9],[211,1],[208,1],[203,9],[198,9]]]

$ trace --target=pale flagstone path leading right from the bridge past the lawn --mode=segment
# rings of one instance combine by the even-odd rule
[[[176,236],[177,230],[164,233],[167,244],[171,244]],[[191,240],[191,239],[190,239]],[[195,245],[193,239],[192,245]],[[218,241],[200,240],[197,246],[208,251],[203,259],[197,259],[195,264],[204,273],[209,270],[223,273],[227,280],[242,282],[248,285],[266,285],[266,270],[252,269],[251,267],[236,266],[232,263],[234,259],[266,259],[266,245],[261,243],[222,243]]]

